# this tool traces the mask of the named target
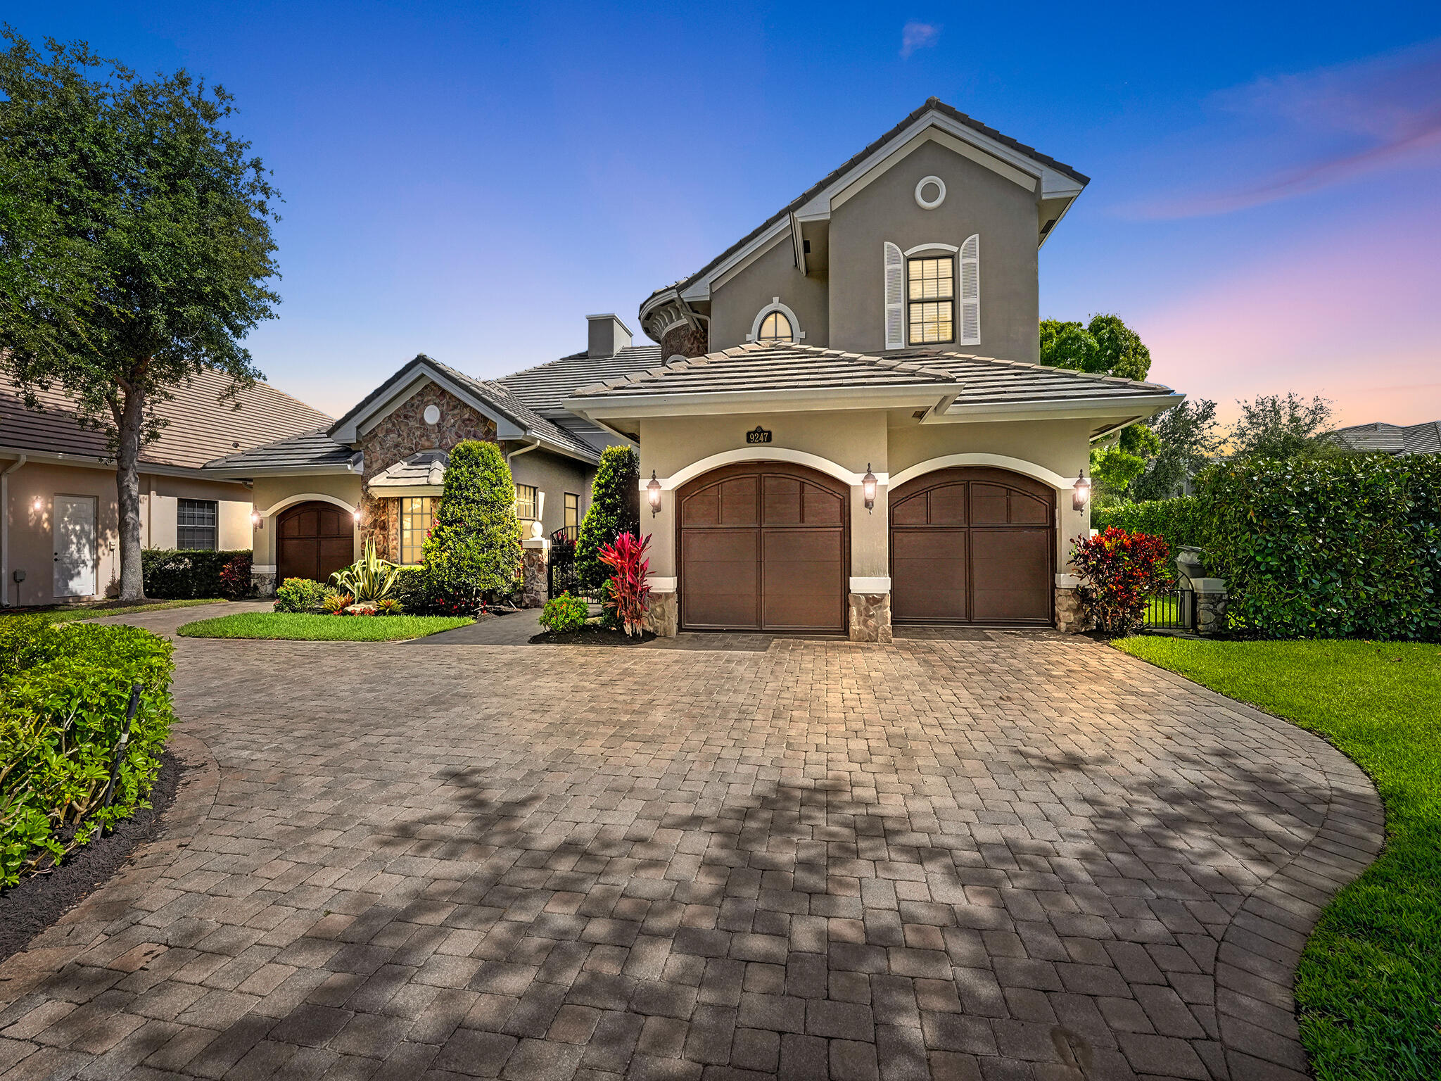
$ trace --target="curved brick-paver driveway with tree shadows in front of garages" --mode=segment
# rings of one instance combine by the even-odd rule
[[[1360,773],[1091,641],[970,637],[182,640],[205,768],[0,967],[0,1074],[1301,1075]]]

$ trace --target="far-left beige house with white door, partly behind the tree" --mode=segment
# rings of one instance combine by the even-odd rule
[[[157,414],[160,440],[140,454],[144,548],[246,549],[251,491],[202,468],[218,454],[329,424],[326,414],[265,383],[222,402],[228,376],[202,372]],[[105,435],[73,402],[42,392],[26,408],[0,381],[0,607],[91,600],[120,578],[115,463]]]

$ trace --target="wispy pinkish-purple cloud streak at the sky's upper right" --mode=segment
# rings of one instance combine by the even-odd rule
[[[1429,160],[1441,151],[1441,42],[1353,63],[1262,78],[1222,91],[1228,156],[1264,141],[1298,164],[1251,183],[1137,208],[1141,218],[1197,218],[1278,202],[1352,177]]]

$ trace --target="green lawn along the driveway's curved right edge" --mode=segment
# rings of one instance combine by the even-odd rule
[[[1386,848],[1306,944],[1301,1038],[1324,1081],[1441,1077],[1441,646],[1115,644],[1319,732],[1376,783]]]

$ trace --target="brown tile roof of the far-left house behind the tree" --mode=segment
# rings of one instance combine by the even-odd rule
[[[239,409],[220,402],[232,383],[203,370],[156,412],[166,421],[160,440],[146,445],[141,463],[199,468],[219,454],[259,447],[330,424],[330,417],[262,382],[238,396]],[[105,434],[81,427],[73,399],[58,388],[39,393],[40,409],[27,409],[20,389],[0,376],[0,447],[48,454],[108,458]]]

